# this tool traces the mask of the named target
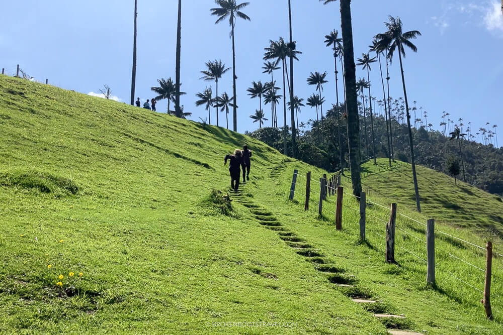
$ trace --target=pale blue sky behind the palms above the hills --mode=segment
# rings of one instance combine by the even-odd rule
[[[251,22],[237,22],[239,132],[258,128],[249,115],[259,108],[259,101],[250,99],[246,88],[252,80],[265,82],[270,78],[261,69],[264,47],[270,39],[288,38],[287,3],[250,0],[243,12]],[[53,85],[82,93],[98,92],[108,84],[119,101],[129,102],[133,4],[133,0],[5,2],[0,25],[0,67],[12,74],[20,64],[36,80],[48,78]],[[177,5],[176,0],[138,0],[136,96],[142,100],[154,96],[150,87],[156,85],[157,78],[175,78]],[[230,28],[227,22],[214,24],[215,17],[209,11],[214,5],[212,0],[183,0],[182,4],[181,78],[187,92],[182,104],[185,111],[192,111],[191,119],[196,121],[207,117],[207,112],[194,105],[195,94],[206,86],[215,88],[214,83],[199,80],[205,62],[221,59],[227,66],[232,65]],[[486,122],[503,128],[503,17],[499,7],[499,0],[355,0],[355,57],[367,52],[372,37],[385,30],[383,22],[388,15],[400,16],[405,30],[420,30],[423,34],[414,42],[417,54],[407,53],[404,69],[409,99],[428,111],[429,122],[440,128],[445,110],[456,121],[471,121],[472,129],[485,127]],[[292,11],[294,40],[303,52],[295,63],[295,94],[307,98],[314,92],[306,84],[309,73],[326,71],[329,82],[323,93],[327,102],[333,103],[333,57],[323,40],[331,30],[340,30],[339,3],[323,6],[317,0],[292,0]],[[392,97],[402,95],[398,69],[396,61],[390,71]],[[377,86],[378,70],[375,65],[371,81],[373,95],[382,98]],[[366,72],[359,68],[357,77],[364,75]],[[275,72],[278,82],[280,76],[281,71]],[[231,71],[219,82],[219,93],[223,91],[232,93]],[[166,102],[159,102],[157,110],[165,109]],[[269,106],[263,109],[266,114],[270,110]],[[222,121],[225,114],[219,117]],[[306,106],[299,118],[304,122],[315,118],[315,111]],[[211,119],[214,123],[214,110]],[[279,123],[283,123],[282,118]],[[503,142],[503,136],[500,138]]]

